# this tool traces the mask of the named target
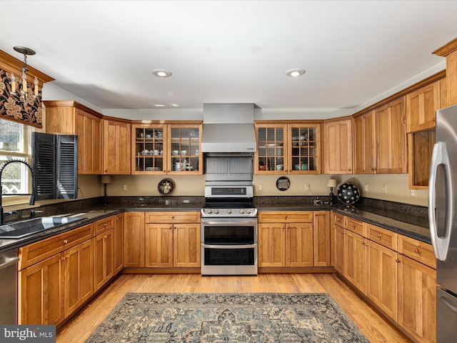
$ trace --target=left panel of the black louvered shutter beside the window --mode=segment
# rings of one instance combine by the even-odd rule
[[[56,135],[32,133],[31,163],[35,172],[35,200],[56,196]]]

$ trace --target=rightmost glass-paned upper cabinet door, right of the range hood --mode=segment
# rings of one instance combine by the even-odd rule
[[[289,170],[291,173],[321,172],[320,125],[289,126]]]

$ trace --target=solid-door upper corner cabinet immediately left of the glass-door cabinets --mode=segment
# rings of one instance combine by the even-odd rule
[[[103,174],[130,174],[131,124],[124,119],[103,121]]]

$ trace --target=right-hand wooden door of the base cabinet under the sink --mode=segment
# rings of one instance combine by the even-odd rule
[[[64,313],[68,317],[94,294],[92,241],[67,249],[65,254]]]

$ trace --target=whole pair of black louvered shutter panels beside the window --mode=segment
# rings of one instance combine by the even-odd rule
[[[35,199],[78,197],[78,136],[32,133]]]

